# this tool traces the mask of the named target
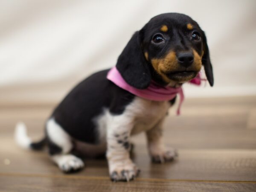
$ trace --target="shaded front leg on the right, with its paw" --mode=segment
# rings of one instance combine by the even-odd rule
[[[164,163],[173,160],[177,151],[172,148],[165,148],[163,143],[163,119],[157,125],[146,132],[148,140],[148,151],[154,163]]]

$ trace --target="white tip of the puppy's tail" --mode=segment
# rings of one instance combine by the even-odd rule
[[[26,125],[23,122],[18,122],[15,127],[14,138],[16,143],[25,149],[30,148],[31,139],[27,135]]]

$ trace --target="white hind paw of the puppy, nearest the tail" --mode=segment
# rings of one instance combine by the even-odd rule
[[[71,154],[55,155],[53,160],[57,163],[61,171],[65,173],[75,172],[84,167],[84,162]]]

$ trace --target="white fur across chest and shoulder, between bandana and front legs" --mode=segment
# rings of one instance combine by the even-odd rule
[[[136,97],[121,115],[113,115],[105,109],[102,115],[95,120],[100,142],[106,141],[107,129],[119,126],[120,132],[131,131],[131,134],[138,134],[154,127],[164,116],[170,107],[169,102],[150,101]],[[129,130],[127,125],[132,125]]]

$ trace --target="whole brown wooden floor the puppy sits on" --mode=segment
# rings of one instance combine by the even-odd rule
[[[17,121],[29,135],[43,135],[53,105],[0,106],[1,192],[256,192],[256,96],[186,99],[181,116],[166,119],[165,140],[177,148],[171,163],[152,164],[143,134],[134,137],[135,181],[113,183],[106,160],[85,160],[85,169],[64,175],[45,152],[24,151],[13,140]]]

